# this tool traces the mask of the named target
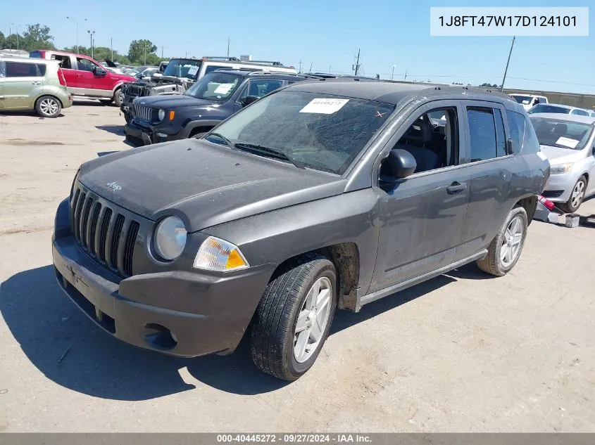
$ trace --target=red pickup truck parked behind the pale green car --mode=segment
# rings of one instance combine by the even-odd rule
[[[29,57],[58,60],[66,79],[66,88],[73,96],[96,98],[106,104],[114,102],[118,107],[123,99],[120,93],[122,84],[137,80],[132,76],[108,71],[89,56],[82,54],[41,49],[31,51]]]

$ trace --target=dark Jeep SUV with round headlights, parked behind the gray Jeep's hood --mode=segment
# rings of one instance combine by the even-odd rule
[[[253,70],[216,70],[181,95],[134,99],[126,138],[144,144],[206,133],[258,98],[306,77]]]

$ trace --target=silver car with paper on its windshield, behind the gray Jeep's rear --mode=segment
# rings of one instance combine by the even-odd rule
[[[595,117],[534,113],[530,119],[551,164],[542,195],[576,212],[595,193]]]

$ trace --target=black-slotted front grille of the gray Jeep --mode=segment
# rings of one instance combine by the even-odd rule
[[[121,276],[132,275],[132,255],[140,224],[77,188],[70,225],[79,245]]]

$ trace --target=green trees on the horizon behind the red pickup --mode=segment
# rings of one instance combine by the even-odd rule
[[[21,49],[35,51],[36,49],[57,49],[54,45],[54,36],[46,25],[39,23],[27,25],[27,30],[19,34],[5,36],[0,32],[0,49]],[[161,60],[168,60],[157,55],[157,46],[150,40],[139,39],[130,42],[127,54],[120,54],[106,46],[94,46],[93,51],[87,46],[66,46],[63,51],[84,54],[95,60],[113,60],[122,65],[159,65]]]

